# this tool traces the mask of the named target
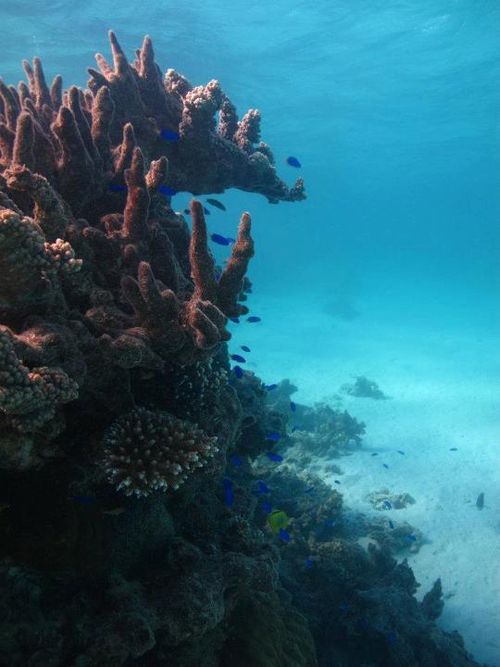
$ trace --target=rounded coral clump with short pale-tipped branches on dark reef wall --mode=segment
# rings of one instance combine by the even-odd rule
[[[106,433],[103,469],[119,491],[148,496],[177,489],[218,451],[216,442],[191,422],[137,408]]]

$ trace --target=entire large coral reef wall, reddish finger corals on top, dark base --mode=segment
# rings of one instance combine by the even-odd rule
[[[228,319],[265,326],[249,214],[221,269],[203,204],[171,206],[302,180],[217,81],[110,41],[88,89],[37,58],[0,82],[0,663],[474,665],[435,624],[439,581],[417,602],[393,557],[418,530],[304,471],[364,425],[230,366]]]

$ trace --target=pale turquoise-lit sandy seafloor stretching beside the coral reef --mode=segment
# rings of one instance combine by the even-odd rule
[[[447,310],[437,303],[427,316],[410,306],[411,314],[401,317],[404,310],[394,301],[387,310],[367,298],[359,316],[342,320],[322,312],[311,296],[306,302],[252,295],[251,312],[262,322],[234,325],[230,349],[250,346],[247,368],[268,383],[289,378],[299,388],[294,398],[300,403],[335,405],[340,386],[357,375],[375,380],[391,397],[376,401],[340,393],[342,407],[366,423],[362,447],[335,460],[344,472],[344,502],[380,515],[366,499],[371,491],[387,487],[416,499],[384,516],[407,520],[424,534],[420,552],[406,554],[420,596],[441,577],[442,627],[458,630],[477,660],[497,667],[500,432],[494,310],[474,302],[477,312],[457,303]],[[412,296],[406,298],[415,304]],[[425,301],[425,295],[418,299]],[[492,319],[479,312],[490,312]],[[315,462],[315,472],[322,474],[322,463]],[[478,510],[481,492],[485,507]]]

